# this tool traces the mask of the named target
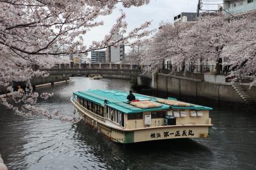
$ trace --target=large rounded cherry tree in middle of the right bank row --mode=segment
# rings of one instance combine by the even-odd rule
[[[230,41],[228,21],[222,17],[200,17],[191,29],[181,33],[182,49],[187,51],[184,56],[189,65],[204,65],[207,61],[216,61],[216,70],[221,63],[223,47]],[[175,59],[176,63],[177,59]]]

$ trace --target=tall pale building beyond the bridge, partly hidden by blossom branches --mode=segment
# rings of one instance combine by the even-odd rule
[[[114,35],[113,40],[122,39],[122,35]],[[106,50],[106,62],[120,63],[125,58],[125,46],[109,46]]]

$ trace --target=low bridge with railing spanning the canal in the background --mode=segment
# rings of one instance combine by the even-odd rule
[[[39,68],[50,73],[50,75],[71,75],[88,76],[89,74],[100,74],[103,77],[116,77],[130,79],[140,75],[143,66],[122,65],[113,63],[93,63],[93,64],[56,64],[49,69]]]

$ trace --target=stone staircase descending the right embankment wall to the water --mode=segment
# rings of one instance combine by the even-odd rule
[[[246,105],[248,105],[249,109],[251,109],[252,111],[256,111],[256,102],[249,95],[246,89],[244,89],[244,87],[237,82],[232,84],[232,87],[236,90],[237,94],[244,100]]]

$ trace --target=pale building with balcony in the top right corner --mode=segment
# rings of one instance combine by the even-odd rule
[[[256,10],[256,0],[224,0],[223,14],[225,17],[244,15]]]

